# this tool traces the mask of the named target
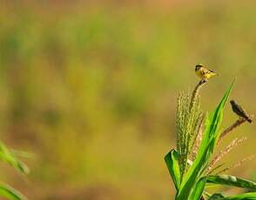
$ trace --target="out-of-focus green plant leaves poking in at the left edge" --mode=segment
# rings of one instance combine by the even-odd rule
[[[10,164],[15,170],[23,175],[29,173],[28,167],[17,159],[17,156],[27,157],[27,154],[21,151],[10,150],[3,143],[0,142],[0,160],[3,163]],[[5,183],[0,183],[0,197],[10,200],[25,200],[19,191],[13,189]],[[2,199],[2,198],[1,198]]]

